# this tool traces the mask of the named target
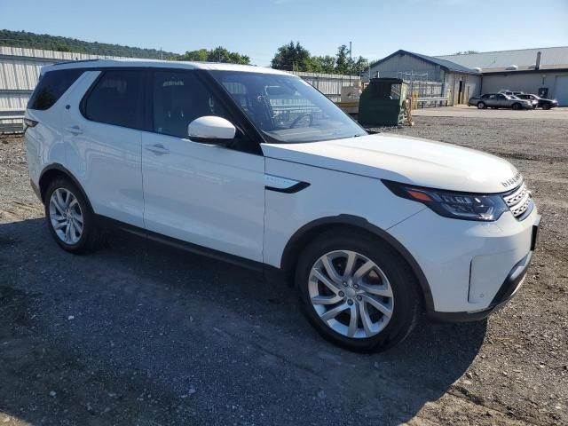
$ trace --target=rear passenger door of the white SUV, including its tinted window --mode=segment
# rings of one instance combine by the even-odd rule
[[[146,71],[103,68],[83,79],[61,113],[68,168],[95,213],[142,227]]]

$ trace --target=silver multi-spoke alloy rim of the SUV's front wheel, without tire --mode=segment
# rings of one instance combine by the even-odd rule
[[[367,256],[351,250],[319,257],[308,292],[319,319],[346,337],[377,335],[392,318],[394,296],[387,276]]]

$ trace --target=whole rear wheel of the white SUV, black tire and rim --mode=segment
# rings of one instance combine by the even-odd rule
[[[47,226],[60,248],[79,255],[99,247],[103,237],[91,205],[71,180],[64,177],[54,179],[45,191],[43,205]]]

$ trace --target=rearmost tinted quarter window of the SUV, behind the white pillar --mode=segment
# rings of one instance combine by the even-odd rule
[[[61,69],[45,73],[28,101],[28,108],[39,110],[51,108],[82,74],[83,69],[80,68]]]

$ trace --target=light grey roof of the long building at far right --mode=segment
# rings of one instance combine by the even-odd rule
[[[518,51],[484,51],[469,55],[442,55],[438,59],[450,60],[468,68],[481,68],[483,73],[506,71],[517,66],[518,70],[534,69],[536,55],[541,52],[540,69],[568,68],[568,46],[521,49]]]

